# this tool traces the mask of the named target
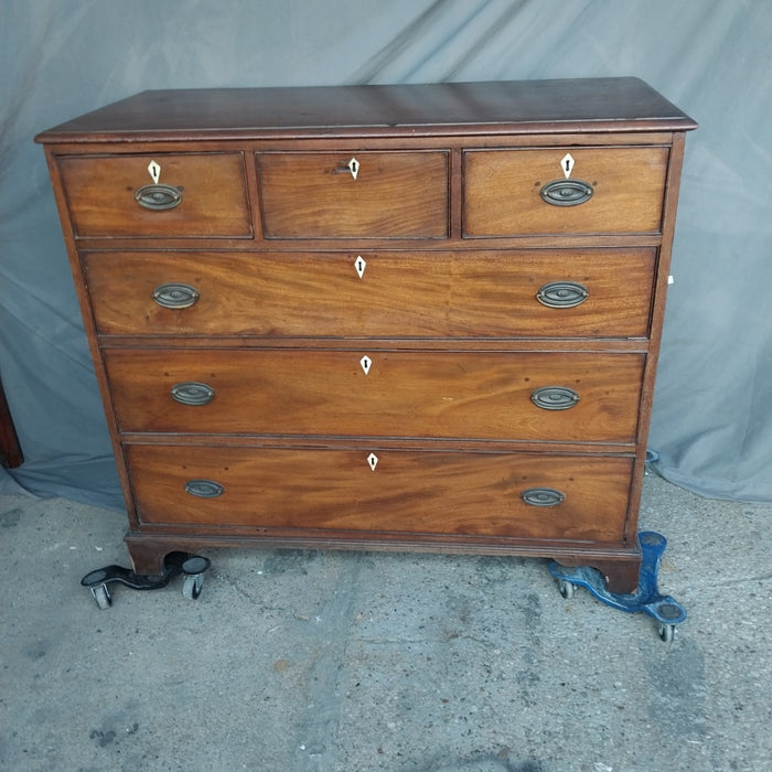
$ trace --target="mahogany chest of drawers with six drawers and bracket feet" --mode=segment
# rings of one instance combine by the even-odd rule
[[[135,570],[447,550],[632,590],[693,128],[608,78],[146,92],[42,133]]]

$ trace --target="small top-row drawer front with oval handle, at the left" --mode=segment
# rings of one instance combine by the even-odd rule
[[[79,237],[251,236],[242,153],[71,156],[60,168]]]

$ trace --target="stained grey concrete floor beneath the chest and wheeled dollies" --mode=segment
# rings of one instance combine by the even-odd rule
[[[211,550],[197,600],[99,611],[125,515],[0,512],[4,771],[772,770],[769,506],[646,478],[669,644],[517,558]]]

